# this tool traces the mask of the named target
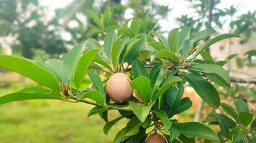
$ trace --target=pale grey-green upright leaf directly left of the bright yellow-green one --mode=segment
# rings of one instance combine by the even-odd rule
[[[79,44],[68,51],[63,59],[63,74],[65,79],[68,79],[68,83],[73,80],[73,75],[76,70],[76,66],[78,65],[78,61],[83,54],[83,49],[84,45]]]

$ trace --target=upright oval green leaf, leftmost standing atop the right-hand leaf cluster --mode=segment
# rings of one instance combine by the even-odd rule
[[[179,29],[172,29],[168,35],[168,45],[170,48],[170,51],[175,53],[177,50],[177,44],[178,44],[178,31]]]

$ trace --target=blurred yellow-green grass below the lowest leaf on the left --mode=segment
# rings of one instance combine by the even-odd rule
[[[56,101],[1,105],[1,142],[113,142],[115,134],[126,121],[119,122],[105,135],[105,123],[99,115],[87,117],[91,108],[87,104]],[[111,113],[110,118],[118,116]]]

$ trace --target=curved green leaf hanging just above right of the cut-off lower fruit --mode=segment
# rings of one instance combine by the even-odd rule
[[[161,119],[163,122],[163,128],[164,132],[167,133],[170,130],[170,127],[172,126],[172,122],[170,122],[170,119],[168,116],[163,112],[162,110],[154,111],[154,113]]]

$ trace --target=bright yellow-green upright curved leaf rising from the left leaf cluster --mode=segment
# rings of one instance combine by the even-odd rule
[[[94,59],[94,56],[100,49],[92,49],[86,51],[83,56],[78,61],[78,66],[76,67],[76,71],[74,74],[74,82],[76,87],[79,89],[81,83],[83,82],[84,76],[86,75],[87,69],[90,66],[91,62]]]

